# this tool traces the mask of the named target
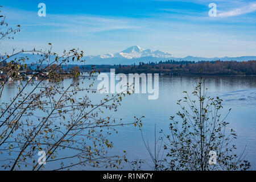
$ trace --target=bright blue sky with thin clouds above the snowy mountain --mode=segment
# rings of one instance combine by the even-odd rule
[[[46,4],[46,17],[38,4]],[[217,17],[209,17],[216,3]],[[256,1],[14,1],[0,0],[10,26],[20,24],[12,48],[46,48],[56,52],[80,48],[86,55],[116,53],[141,46],[175,57],[256,56]]]

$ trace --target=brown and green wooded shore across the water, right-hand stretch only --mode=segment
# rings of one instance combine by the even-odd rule
[[[163,73],[172,75],[256,75],[256,61],[160,61],[119,65],[116,73]]]

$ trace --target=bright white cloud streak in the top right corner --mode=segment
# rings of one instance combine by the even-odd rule
[[[253,13],[256,11],[256,3],[250,3],[249,5],[242,6],[240,8],[231,10],[231,11],[226,11],[219,13],[219,17],[228,17],[228,16],[238,16],[242,14],[247,14],[247,13]]]

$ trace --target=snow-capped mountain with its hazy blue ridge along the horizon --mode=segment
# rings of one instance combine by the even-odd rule
[[[31,55],[31,54],[24,54],[29,58],[27,63],[33,63],[35,60],[40,59],[39,55]],[[52,57],[54,59],[54,57]],[[121,64],[121,65],[130,65],[130,64],[139,64],[139,62],[159,62],[159,61],[166,61],[166,60],[175,60],[175,61],[249,61],[249,60],[256,60],[256,56],[241,56],[241,57],[195,57],[195,56],[187,56],[187,57],[174,57],[171,53],[162,52],[162,51],[152,51],[151,49],[143,49],[139,46],[132,46],[129,47],[121,52],[118,53],[107,53],[105,55],[97,55],[97,56],[85,56],[84,59],[85,64],[95,64],[95,65],[114,65],[114,64]],[[77,64],[73,63],[72,61],[70,64]],[[82,63],[84,64],[84,63]]]

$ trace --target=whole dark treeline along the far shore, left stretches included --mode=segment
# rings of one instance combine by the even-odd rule
[[[7,63],[3,61],[0,69]],[[41,65],[44,66],[44,65]],[[256,60],[251,61],[175,61],[167,60],[159,63],[139,63],[138,65],[66,65],[63,70],[79,70],[82,72],[92,69],[100,72],[115,73],[160,73],[163,75],[256,75]],[[37,70],[37,65],[28,65],[27,71]]]

